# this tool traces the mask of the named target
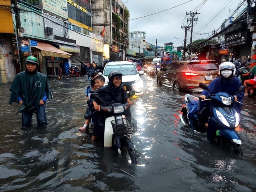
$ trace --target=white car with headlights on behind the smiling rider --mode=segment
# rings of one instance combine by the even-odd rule
[[[122,85],[128,93],[131,90],[135,90],[135,95],[143,94],[143,81],[140,78],[140,75],[144,74],[143,71],[138,72],[135,65],[130,61],[108,62],[104,67],[102,74],[102,76],[105,78],[105,85],[109,83],[109,73],[114,70],[119,70],[122,72]]]

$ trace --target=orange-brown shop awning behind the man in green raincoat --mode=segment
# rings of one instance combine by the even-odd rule
[[[28,45],[28,40],[22,40],[22,43]],[[67,59],[70,59],[71,56],[71,54],[64,52],[46,42],[37,42],[37,46],[31,47],[40,49],[43,56],[62,57]]]

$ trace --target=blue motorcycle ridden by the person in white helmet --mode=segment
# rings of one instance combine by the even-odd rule
[[[205,83],[199,83],[202,89],[209,90]],[[244,90],[244,86],[239,91]],[[190,94],[185,95],[180,119],[183,125],[189,126],[193,133],[207,133],[207,139],[214,142],[219,140],[229,142],[236,154],[242,154],[241,139],[235,131],[239,125],[239,114],[233,109],[234,96],[220,92],[210,94],[205,100],[199,100]]]

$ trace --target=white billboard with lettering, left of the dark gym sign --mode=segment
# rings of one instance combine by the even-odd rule
[[[47,10],[57,16],[67,19],[66,0],[42,0],[43,10]]]

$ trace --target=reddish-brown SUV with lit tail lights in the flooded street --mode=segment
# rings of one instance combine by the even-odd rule
[[[175,60],[157,74],[157,84],[173,88],[175,91],[200,93],[199,83],[211,83],[219,73],[216,61]]]

